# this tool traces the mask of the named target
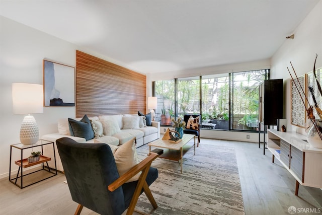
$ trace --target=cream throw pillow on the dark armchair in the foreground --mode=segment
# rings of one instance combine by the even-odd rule
[[[122,144],[116,150],[114,159],[120,176],[124,175],[127,171],[139,163],[139,159],[136,154],[135,137]],[[127,182],[139,180],[140,174],[141,173],[139,172]]]

